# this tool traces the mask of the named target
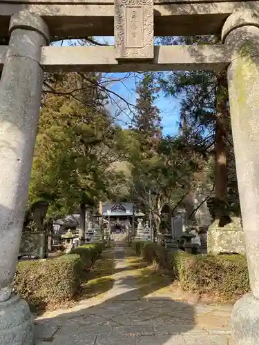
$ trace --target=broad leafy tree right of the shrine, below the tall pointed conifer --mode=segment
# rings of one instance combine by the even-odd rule
[[[134,148],[134,146],[132,146]],[[182,144],[182,137],[161,137],[153,157],[131,156],[132,197],[140,207],[153,213],[156,230],[164,231],[171,226],[171,215],[184,195],[196,184],[195,173],[202,170],[202,157]],[[151,205],[149,204],[151,190]],[[164,207],[168,208],[168,217],[162,220]]]

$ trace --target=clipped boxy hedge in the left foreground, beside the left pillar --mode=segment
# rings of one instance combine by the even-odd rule
[[[19,262],[14,291],[35,306],[73,299],[80,286],[81,268],[79,255]]]

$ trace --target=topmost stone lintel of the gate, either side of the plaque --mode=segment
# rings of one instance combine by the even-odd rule
[[[69,3],[69,5],[68,5]],[[23,5],[21,5],[23,4]],[[21,8],[44,16],[51,37],[113,36],[113,1],[98,0],[13,0],[1,3],[0,36],[8,36],[10,16]],[[155,36],[220,34],[222,21],[236,10],[258,8],[257,1],[173,0],[155,1]],[[213,20],[212,20],[213,19]]]

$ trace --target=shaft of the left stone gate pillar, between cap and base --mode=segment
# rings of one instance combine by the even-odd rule
[[[38,28],[38,17],[36,22]],[[12,31],[0,81],[0,301],[8,298],[15,275],[41,102],[39,61],[46,41],[33,30]]]

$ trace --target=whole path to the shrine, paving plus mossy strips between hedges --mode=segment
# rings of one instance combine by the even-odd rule
[[[186,303],[166,272],[113,246],[73,308],[36,320],[36,345],[227,345],[231,306]]]

